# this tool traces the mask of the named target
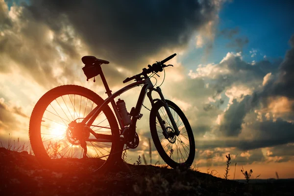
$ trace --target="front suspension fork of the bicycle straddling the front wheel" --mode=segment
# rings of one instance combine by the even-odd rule
[[[151,92],[152,92],[152,91],[156,91],[156,92],[159,94],[159,96],[160,96],[161,99],[158,99],[158,98],[153,99],[152,96],[151,96]],[[147,93],[147,97],[149,98],[149,100],[150,100],[152,106],[153,106],[153,104],[154,104],[154,101],[156,101],[156,100],[161,101],[161,102],[163,103],[164,108],[166,109],[166,112],[167,112],[167,114],[168,114],[168,117],[170,118],[170,121],[171,121],[171,123],[172,123],[173,129],[174,129],[174,131],[175,131],[175,135],[178,136],[178,135],[180,134],[179,129],[178,129],[178,127],[177,127],[177,125],[176,125],[176,123],[175,123],[173,117],[172,117],[172,113],[171,113],[170,107],[169,107],[167,101],[165,100],[165,98],[163,97],[163,94],[162,94],[162,92],[161,92],[160,87],[156,87],[156,89],[155,89],[155,88],[150,89],[150,91]],[[159,115],[158,112],[156,113],[156,117],[157,117],[157,119],[158,119],[158,121],[159,121],[159,124],[160,124],[161,128],[164,130],[164,133],[166,133],[166,126],[165,126],[165,124],[163,123],[163,120],[162,120],[162,118],[160,117],[160,115]],[[167,133],[166,133],[165,137],[166,137],[166,138],[168,137],[168,134],[167,134]]]

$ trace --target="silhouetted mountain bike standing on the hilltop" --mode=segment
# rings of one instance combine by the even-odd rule
[[[148,65],[142,73],[127,77],[123,83],[131,80],[135,82],[114,94],[101,69],[102,64],[109,62],[94,56],[82,57],[85,64],[82,70],[87,81],[94,77],[95,82],[95,76],[100,75],[108,98],[104,100],[90,89],[77,85],[58,86],[45,93],[36,103],[29,122],[29,139],[39,162],[51,165],[55,159],[92,157],[99,160],[97,171],[106,171],[107,167],[114,165],[117,158],[122,158],[118,156],[122,155],[123,150],[138,147],[136,123],[143,116],[140,111],[147,95],[151,102],[151,137],[159,155],[172,168],[182,165],[190,167],[195,157],[191,126],[182,110],[165,99],[160,87],[154,88],[150,80],[154,74],[164,71],[164,68],[173,67],[164,63],[175,55],[152,66]],[[119,99],[116,102],[115,98],[137,86],[142,86],[137,104],[127,112],[124,101]],[[160,98],[153,99],[153,91]],[[124,144],[127,147],[125,149]]]

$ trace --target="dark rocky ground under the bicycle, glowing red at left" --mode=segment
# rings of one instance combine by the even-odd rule
[[[26,151],[0,148],[1,196],[291,196],[293,181],[246,184],[192,170],[128,165],[131,172],[91,174],[95,161],[64,159],[61,170],[43,169]]]

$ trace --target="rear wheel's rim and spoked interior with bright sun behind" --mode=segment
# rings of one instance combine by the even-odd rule
[[[61,95],[48,101],[48,106],[42,116],[40,133],[43,146],[51,159],[83,158],[86,155],[107,160],[111,152],[111,142],[86,142],[87,153],[84,153],[81,145],[77,145],[77,138],[73,137],[72,130],[68,129],[69,123],[73,120],[76,120],[77,123],[81,122],[83,119],[80,118],[87,116],[97,106],[97,102],[93,99],[81,93],[73,93]],[[103,111],[90,128],[96,133],[112,135],[111,129],[102,127],[110,127]],[[92,134],[89,138],[95,139]]]

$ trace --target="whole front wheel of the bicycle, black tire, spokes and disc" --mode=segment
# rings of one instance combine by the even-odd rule
[[[195,157],[192,128],[182,110],[172,101],[166,101],[180,134],[176,136],[164,103],[157,101],[150,112],[152,140],[159,155],[170,167],[174,169],[181,165],[190,167]]]

